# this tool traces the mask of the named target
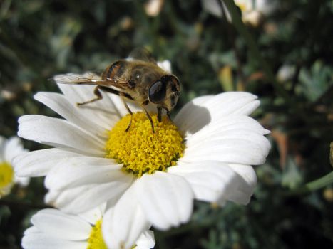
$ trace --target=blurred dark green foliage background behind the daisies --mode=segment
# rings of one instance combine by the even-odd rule
[[[246,27],[263,64],[247,38],[200,1],[161,1],[149,16],[147,1],[2,0],[1,135],[15,135],[21,115],[55,116],[33,100],[36,92],[58,91],[48,78],[101,71],[144,46],[170,60],[183,83],[176,109],[200,95],[246,90],[262,102],[253,117],[272,131],[250,204],[196,202],[190,223],[155,231],[155,248],[333,248],[333,187],[304,190],[332,171],[333,1],[269,2],[274,10]],[[43,179],[32,179],[0,200],[0,248],[20,247],[29,218],[46,207],[45,192]]]

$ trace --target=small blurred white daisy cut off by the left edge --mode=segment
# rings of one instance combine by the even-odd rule
[[[22,146],[19,137],[5,139],[0,136],[0,198],[9,194],[14,184],[20,186],[29,184],[29,177],[15,176],[11,165],[14,157],[26,152],[27,150]]]

